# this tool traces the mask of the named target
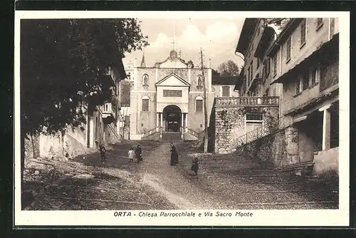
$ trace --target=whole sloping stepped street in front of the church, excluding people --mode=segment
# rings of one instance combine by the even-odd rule
[[[337,209],[337,184],[310,178],[303,185],[237,155],[199,154],[192,143],[177,143],[177,166],[169,165],[169,143],[142,142],[143,162],[129,163],[132,145],[108,148],[105,164],[96,152],[68,162],[37,161],[51,164],[56,175],[26,180],[27,189],[42,194],[27,209]],[[198,177],[190,170],[194,156]]]

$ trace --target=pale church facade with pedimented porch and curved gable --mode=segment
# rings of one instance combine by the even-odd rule
[[[154,67],[146,67],[144,61],[142,58],[141,66],[133,70],[130,140],[145,140],[150,136],[151,140],[157,140],[164,133],[197,140],[199,132],[204,130],[203,75],[208,120],[214,103],[211,68],[194,68],[192,61],[182,60],[174,50]]]

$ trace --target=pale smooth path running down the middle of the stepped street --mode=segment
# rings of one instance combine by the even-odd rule
[[[177,209],[227,209],[221,197],[199,187],[199,178],[189,177],[179,166],[169,165],[169,149],[169,143],[162,143],[145,158],[140,167],[145,185],[162,193]]]

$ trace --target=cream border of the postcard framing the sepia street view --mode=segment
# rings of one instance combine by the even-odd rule
[[[14,55],[14,105],[15,119],[21,118],[20,111],[20,21],[21,19],[62,19],[62,18],[236,18],[251,17],[337,17],[340,21],[340,205],[337,210],[220,210],[231,212],[231,217],[205,217],[199,213],[209,210],[174,210],[171,212],[195,212],[196,217],[140,217],[139,212],[130,211],[130,217],[115,217],[115,211],[21,211],[20,173],[20,120],[15,120],[15,197],[14,224],[16,226],[348,226],[350,223],[350,12],[347,11],[16,11],[15,12],[15,55]],[[237,36],[236,36],[237,37]],[[346,78],[346,80],[342,80]],[[116,211],[120,212],[120,211]],[[129,211],[127,211],[129,212]],[[155,212],[153,210],[147,212]],[[160,212],[157,211],[159,215]],[[169,211],[164,211],[169,212]],[[216,210],[210,211],[216,214]],[[235,216],[236,212],[252,212],[252,217]],[[136,215],[134,215],[136,214]]]

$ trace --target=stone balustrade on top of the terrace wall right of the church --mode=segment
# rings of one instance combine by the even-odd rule
[[[279,105],[279,97],[229,97],[215,98],[215,106]]]

